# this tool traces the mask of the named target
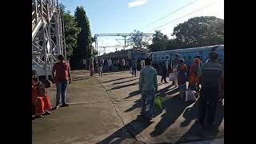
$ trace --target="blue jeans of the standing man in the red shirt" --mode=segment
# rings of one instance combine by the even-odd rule
[[[57,94],[56,94],[56,106],[59,105],[60,103],[60,98],[62,95],[62,105],[66,103],[66,87],[67,87],[67,82],[57,82],[56,83],[57,87]]]

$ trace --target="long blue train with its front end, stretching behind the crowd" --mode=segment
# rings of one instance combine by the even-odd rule
[[[218,58],[222,59],[222,66],[224,65],[224,45],[215,45],[215,46],[201,46],[201,47],[191,47],[183,48],[177,50],[164,50],[156,52],[148,52],[147,49],[142,49],[134,47],[129,50],[115,51],[110,54],[103,54],[98,56],[98,58],[111,58],[112,61],[116,62],[118,58],[124,58],[126,60],[126,67],[130,67],[131,60],[133,58],[137,59],[138,70],[140,70],[140,62],[145,58],[150,58],[152,60],[152,65],[155,69],[159,70],[159,65],[166,60],[168,56],[169,66],[172,67],[172,59],[174,54],[178,54],[179,58],[184,58],[185,64],[190,68],[193,64],[194,58],[200,58],[204,63],[209,59],[209,53],[211,51],[218,52]],[[189,70],[188,70],[189,71]]]

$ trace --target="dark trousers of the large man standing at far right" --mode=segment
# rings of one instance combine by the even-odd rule
[[[218,86],[210,88],[202,88],[200,91],[200,97],[198,99],[198,110],[199,110],[199,122],[203,123],[206,110],[207,110],[207,121],[209,123],[214,122],[214,117],[218,104]]]

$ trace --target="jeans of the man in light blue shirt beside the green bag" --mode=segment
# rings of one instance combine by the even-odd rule
[[[154,116],[154,90],[142,91],[142,115],[145,115],[148,118]],[[146,111],[146,106],[150,106],[149,110]]]

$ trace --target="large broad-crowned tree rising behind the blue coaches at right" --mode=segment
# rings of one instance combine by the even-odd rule
[[[224,44],[224,20],[209,16],[190,18],[174,27],[173,35],[182,47]]]

